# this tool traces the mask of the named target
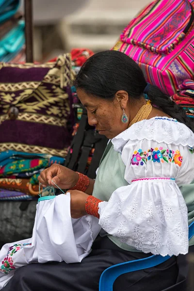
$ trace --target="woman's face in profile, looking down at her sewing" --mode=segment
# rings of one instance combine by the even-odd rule
[[[123,110],[119,101],[106,100],[86,94],[82,89],[77,89],[81,104],[86,108],[88,123],[95,126],[100,134],[112,139],[127,129],[128,124],[121,122]]]

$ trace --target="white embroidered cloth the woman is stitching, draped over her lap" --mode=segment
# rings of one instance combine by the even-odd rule
[[[7,243],[0,250],[0,290],[17,268],[29,263],[81,262],[90,253],[101,229],[98,221],[91,215],[72,219],[70,193],[40,201],[32,238]]]

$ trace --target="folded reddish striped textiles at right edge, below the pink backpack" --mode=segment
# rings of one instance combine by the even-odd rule
[[[172,100],[184,108],[188,117],[194,118],[194,80],[185,80]]]

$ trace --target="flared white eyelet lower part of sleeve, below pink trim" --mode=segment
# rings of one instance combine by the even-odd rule
[[[125,199],[120,199],[123,193]],[[118,188],[109,202],[99,204],[99,224],[121,242],[144,253],[187,254],[188,218],[183,200],[173,182],[147,182],[143,194],[142,187],[137,189],[132,183]]]

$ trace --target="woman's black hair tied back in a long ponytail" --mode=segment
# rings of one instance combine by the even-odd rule
[[[147,83],[141,68],[131,58],[122,52],[108,50],[93,55],[85,62],[74,85],[87,94],[105,99],[113,99],[117,91],[124,90],[135,100],[141,98]],[[150,85],[147,96],[164,113],[194,131],[194,121],[157,86]]]

